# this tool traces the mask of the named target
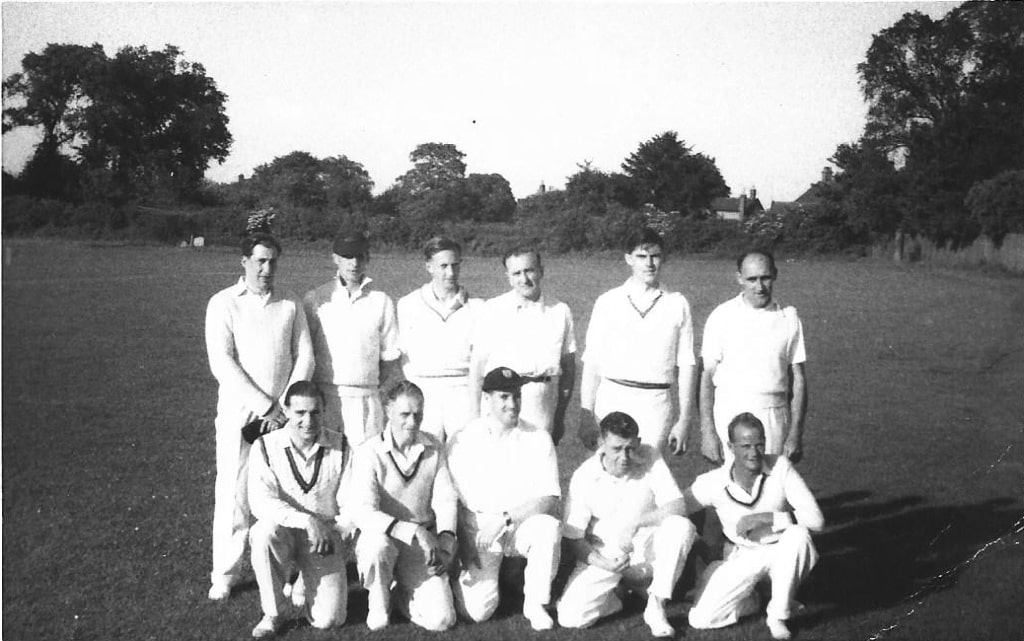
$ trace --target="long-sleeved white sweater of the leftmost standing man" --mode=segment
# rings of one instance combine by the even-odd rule
[[[313,371],[302,304],[282,290],[254,294],[245,279],[210,299],[206,349],[220,384],[218,413],[242,407],[263,416],[291,383]]]

